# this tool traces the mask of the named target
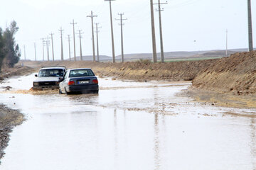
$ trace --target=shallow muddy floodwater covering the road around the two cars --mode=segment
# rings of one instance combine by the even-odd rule
[[[190,83],[99,81],[99,95],[0,94],[27,119],[0,169],[256,169],[256,110],[195,103],[183,94]]]

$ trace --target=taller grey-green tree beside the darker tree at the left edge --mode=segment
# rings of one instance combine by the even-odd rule
[[[16,45],[14,35],[18,32],[18,26],[16,21],[12,21],[9,28],[4,31],[4,44],[6,49],[6,55],[4,57],[3,64],[5,67],[14,67],[21,57],[21,52],[18,45]]]

